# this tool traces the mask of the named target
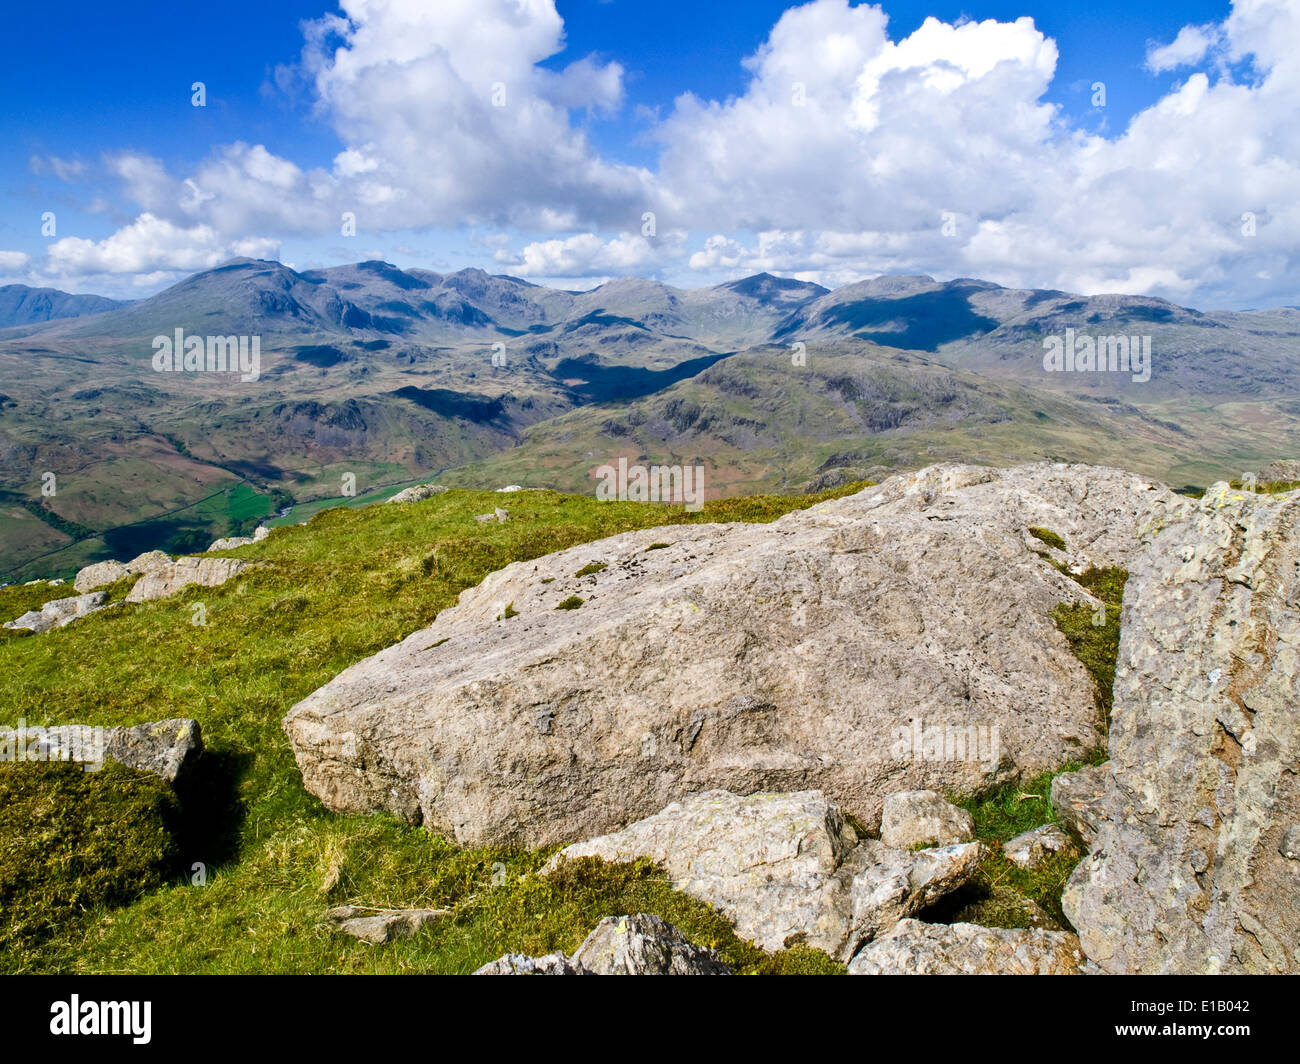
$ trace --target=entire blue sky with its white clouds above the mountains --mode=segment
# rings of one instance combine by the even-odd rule
[[[8,12],[0,282],[139,295],[244,251],[584,287],[924,271],[1300,302],[1300,81],[1270,43],[1295,0],[884,0],[887,26],[848,0],[412,3],[328,35],[337,8],[286,0]],[[1206,173],[1197,131],[1236,169]]]

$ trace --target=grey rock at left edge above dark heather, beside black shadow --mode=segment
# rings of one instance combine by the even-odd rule
[[[32,744],[44,761],[101,764],[116,761],[176,783],[203,753],[203,734],[198,721],[173,718],[131,727],[58,725],[27,728],[29,756]]]

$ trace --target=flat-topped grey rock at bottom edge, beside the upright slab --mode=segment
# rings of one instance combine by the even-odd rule
[[[849,961],[850,976],[1078,976],[1079,939],[1065,931],[902,920]]]

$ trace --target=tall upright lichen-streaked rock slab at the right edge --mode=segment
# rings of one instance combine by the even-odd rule
[[[1066,916],[1105,972],[1300,972],[1300,493],[1152,514]]]

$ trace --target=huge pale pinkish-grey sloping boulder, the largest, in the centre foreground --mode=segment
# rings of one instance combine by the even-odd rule
[[[1027,529],[1065,565],[1127,565],[1154,498],[1113,470],[936,466],[771,524],[629,532],[490,575],[285,730],[329,808],[465,845],[589,838],[719,787],[816,788],[872,823],[894,791],[1096,747],[1052,620],[1096,604]]]

